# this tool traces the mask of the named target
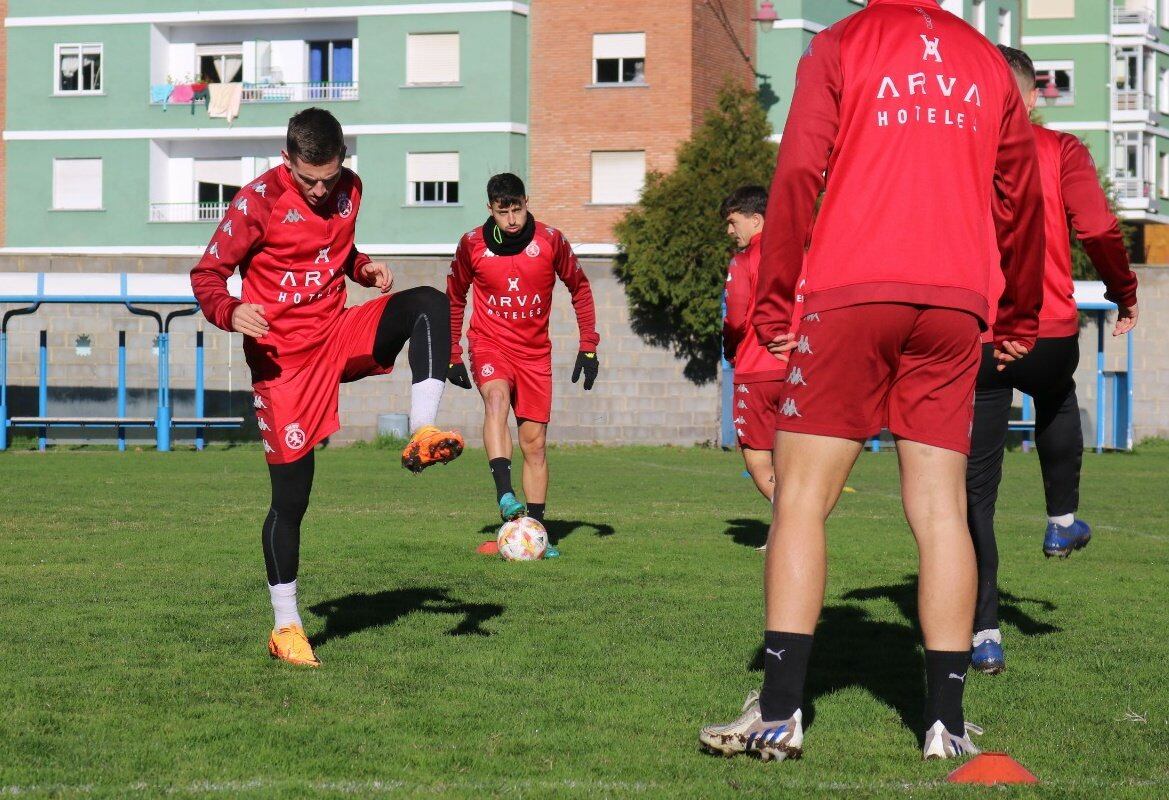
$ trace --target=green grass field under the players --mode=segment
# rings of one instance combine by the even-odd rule
[[[915,557],[895,460],[830,523],[801,761],[725,760],[700,725],[759,685],[765,505],[738,456],[552,453],[563,557],[475,552],[482,451],[421,477],[318,454],[300,596],[320,670],[269,660],[257,449],[0,454],[0,796],[1169,795],[1169,447],[1085,458],[1095,538],[1040,552],[1033,455],[999,502],[1009,661],[970,676],[982,745],[1042,779],[922,763]]]

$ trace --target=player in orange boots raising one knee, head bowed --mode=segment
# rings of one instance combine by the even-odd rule
[[[419,287],[389,294],[393,276],[353,243],[361,181],[341,166],[341,125],[321,109],[289,120],[284,164],[241,189],[191,271],[207,319],[243,335],[272,502],[262,531],[276,623],[269,653],[319,667],[297,608],[300,522],[312,490],[313,447],[340,428],[339,386],[388,373],[409,344],[410,429],[402,465],[421,471],[463,449],[435,427],[450,360],[450,309]],[[238,269],[243,297],[228,294]],[[345,278],[376,299],[345,308]],[[376,478],[373,478],[376,483]]]

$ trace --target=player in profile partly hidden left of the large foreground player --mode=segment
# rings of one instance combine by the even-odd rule
[[[770,503],[775,492],[772,447],[787,364],[759,344],[750,329],[767,189],[762,186],[740,187],[722,201],[720,213],[726,220],[727,234],[739,248],[727,268],[727,311],[722,318],[722,352],[734,367],[735,435],[747,473]],[[758,550],[767,550],[767,545]]]

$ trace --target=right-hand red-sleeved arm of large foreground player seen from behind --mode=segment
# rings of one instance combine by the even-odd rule
[[[1014,88],[1015,77],[1007,77]],[[995,322],[995,351],[999,361],[1025,356],[1035,347],[1039,335],[1046,237],[1037,164],[1031,122],[1023,98],[1014,90],[1003,109],[995,171],[995,189],[1002,201],[999,213],[994,215],[995,233],[1005,280]]]

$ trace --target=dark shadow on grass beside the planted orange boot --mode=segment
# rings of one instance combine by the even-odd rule
[[[463,620],[447,632],[448,636],[490,636],[483,623],[504,613],[494,602],[463,602],[451,598],[448,589],[413,587],[367,594],[358,592],[312,606],[313,614],[325,618],[325,629],[310,637],[313,647],[369,628],[393,625],[401,618],[423,612],[427,614],[462,614]]]

